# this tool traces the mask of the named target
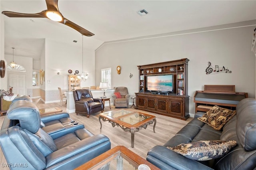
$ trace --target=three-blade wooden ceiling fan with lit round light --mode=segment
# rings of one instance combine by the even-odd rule
[[[58,0],[45,0],[45,1],[46,1],[47,10],[38,12],[36,14],[24,14],[24,13],[11,12],[11,11],[3,11],[2,14],[6,15],[8,17],[48,18],[50,20],[54,20],[54,21],[60,22],[62,24],[65,24],[65,25],[77,30],[84,36],[90,37],[90,36],[94,35],[93,33],[89,32],[88,30],[76,25],[74,22],[71,22],[70,20],[64,18],[58,9]]]

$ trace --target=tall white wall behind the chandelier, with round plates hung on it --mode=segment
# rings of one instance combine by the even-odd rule
[[[63,91],[68,90],[68,70],[75,73],[82,73],[82,46],[69,45],[62,42],[55,42],[46,39],[45,43],[45,95],[46,103],[59,100],[58,87]],[[81,82],[81,87],[90,87],[94,85],[94,50],[86,49],[84,44],[84,73],[88,72],[89,77]],[[42,64],[41,64],[42,66]],[[60,71],[60,74],[57,74]]]

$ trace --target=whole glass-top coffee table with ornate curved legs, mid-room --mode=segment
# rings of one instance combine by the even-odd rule
[[[146,129],[148,125],[154,123],[154,133],[156,127],[156,117],[146,113],[134,112],[126,109],[118,109],[106,113],[100,113],[100,129],[102,128],[102,121],[108,121],[112,127],[121,127],[125,132],[131,132],[132,148],[134,147],[134,133],[140,129]]]

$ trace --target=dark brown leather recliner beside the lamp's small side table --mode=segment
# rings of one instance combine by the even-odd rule
[[[91,114],[104,111],[103,102],[101,99],[92,97],[90,89],[77,89],[73,91],[76,115],[86,114],[89,118]]]

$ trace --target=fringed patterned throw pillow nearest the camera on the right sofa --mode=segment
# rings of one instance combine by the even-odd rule
[[[200,140],[198,142],[182,143],[173,148],[167,148],[186,158],[202,161],[220,158],[228,153],[234,146],[236,146],[235,140],[228,142],[224,140]]]

